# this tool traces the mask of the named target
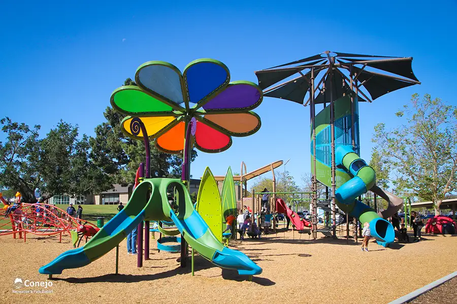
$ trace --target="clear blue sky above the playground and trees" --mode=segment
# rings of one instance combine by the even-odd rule
[[[74,2],[77,3],[77,2]],[[255,70],[325,50],[414,57],[420,86],[361,104],[362,157],[370,159],[373,127],[399,121],[394,113],[412,93],[455,101],[455,1],[80,1],[6,2],[0,11],[0,116],[48,132],[60,119],[93,135],[111,92],[149,60],[179,68],[198,58],[224,62],[232,80],[256,82]],[[353,13],[348,13],[349,10]],[[199,152],[192,175],[205,166],[222,175],[276,160],[300,182],[310,171],[309,109],[265,98],[255,109],[262,128],[234,138],[220,154]],[[282,167],[280,168],[282,171]]]

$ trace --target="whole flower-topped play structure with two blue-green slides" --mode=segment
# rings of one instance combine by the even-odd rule
[[[149,259],[151,220],[173,221],[177,226],[182,236],[181,267],[186,266],[190,245],[192,275],[194,250],[218,267],[237,270],[240,275],[251,278],[262,273],[244,253],[223,246],[195,211],[188,191],[192,144],[201,151],[217,153],[231,146],[232,136],[255,133],[260,128],[260,118],[249,110],[262,102],[262,91],[250,82],[229,83],[228,68],[213,59],[192,61],[183,73],[170,63],[149,61],[137,69],[135,80],[138,87],[116,89],[111,104],[128,115],[121,123],[122,131],[144,141],[146,161],[138,171],[141,182],[124,209],[84,247],[60,254],[40,268],[40,273],[52,276],[64,269],[83,267],[118,248],[134,227],[138,227],[137,266],[142,267],[143,231],[144,258]],[[162,151],[183,153],[181,179],[150,178],[149,137],[156,138],[155,144]],[[175,192],[177,214],[168,202],[170,189]]]

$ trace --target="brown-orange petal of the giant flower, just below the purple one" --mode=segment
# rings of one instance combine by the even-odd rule
[[[207,114],[201,121],[208,125],[216,125],[228,135],[248,136],[260,129],[260,117],[254,112]]]

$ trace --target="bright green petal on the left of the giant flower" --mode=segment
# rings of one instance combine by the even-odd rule
[[[111,105],[118,112],[132,116],[170,115],[172,107],[146,94],[137,86],[123,86],[111,94]]]

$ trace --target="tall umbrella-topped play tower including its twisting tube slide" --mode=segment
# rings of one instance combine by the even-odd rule
[[[316,214],[320,203],[331,208],[333,237],[336,237],[335,211],[338,205],[347,219],[352,215],[362,223],[370,222],[372,236],[379,244],[388,246],[394,241],[393,227],[386,218],[399,210],[402,202],[376,186],[375,172],[358,157],[358,102],[372,102],[389,92],[420,84],[412,71],[411,62],[412,58],[325,51],[255,72],[264,96],[310,105],[314,239],[317,237]],[[286,80],[294,74],[299,75]],[[319,74],[322,77],[315,85]],[[281,81],[284,82],[275,85]],[[309,97],[305,102],[306,95]],[[316,104],[323,104],[317,115]],[[316,192],[317,182],[332,189],[331,195],[320,202]],[[355,200],[369,190],[387,200],[387,212],[377,214],[360,200]]]

